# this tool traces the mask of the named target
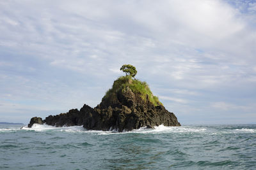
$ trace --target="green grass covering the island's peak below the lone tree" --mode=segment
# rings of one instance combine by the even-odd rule
[[[114,81],[112,89],[109,89],[106,92],[106,95],[103,99],[108,99],[108,97],[112,96],[113,93],[119,92],[122,90],[124,92],[127,87],[132,90],[135,94],[140,94],[141,99],[146,101],[147,96],[149,101],[154,104],[154,106],[163,105],[158,97],[154,96],[150,91],[148,84],[145,81],[133,80],[132,76],[121,76],[117,80]]]

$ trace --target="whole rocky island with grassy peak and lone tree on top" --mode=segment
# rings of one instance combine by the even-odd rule
[[[126,76],[114,81],[113,87],[106,92],[95,108],[84,104],[80,109],[46,117],[33,117],[28,124],[47,124],[56,127],[83,125],[90,130],[118,132],[131,131],[140,127],[180,126],[177,117],[166,110],[158,97],[150,91],[146,82],[134,79],[137,71],[129,64],[120,68]]]

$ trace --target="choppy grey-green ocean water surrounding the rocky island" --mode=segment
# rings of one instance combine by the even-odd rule
[[[256,169],[256,125],[122,133],[0,125],[0,169]]]

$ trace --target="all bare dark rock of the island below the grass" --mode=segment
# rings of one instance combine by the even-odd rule
[[[39,119],[31,118],[29,127],[42,120]],[[43,122],[56,127],[83,125],[86,129],[102,131],[115,129],[118,132],[140,127],[153,128],[161,124],[180,126],[175,115],[166,110],[162,104],[155,106],[148,96],[142,99],[140,93],[132,92],[129,87],[103,97],[102,102],[95,108],[84,104],[80,110],[74,109],[68,113],[50,115]]]

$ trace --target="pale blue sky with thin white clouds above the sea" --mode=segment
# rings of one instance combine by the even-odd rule
[[[0,0],[0,122],[95,107],[132,64],[180,124],[256,122],[256,1]]]

